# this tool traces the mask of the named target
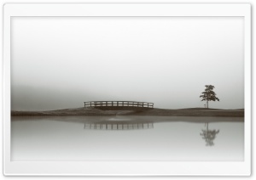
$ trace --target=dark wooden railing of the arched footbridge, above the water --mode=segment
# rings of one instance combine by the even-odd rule
[[[137,102],[137,101],[89,101],[84,102],[84,107],[143,107],[154,108],[154,103]]]

